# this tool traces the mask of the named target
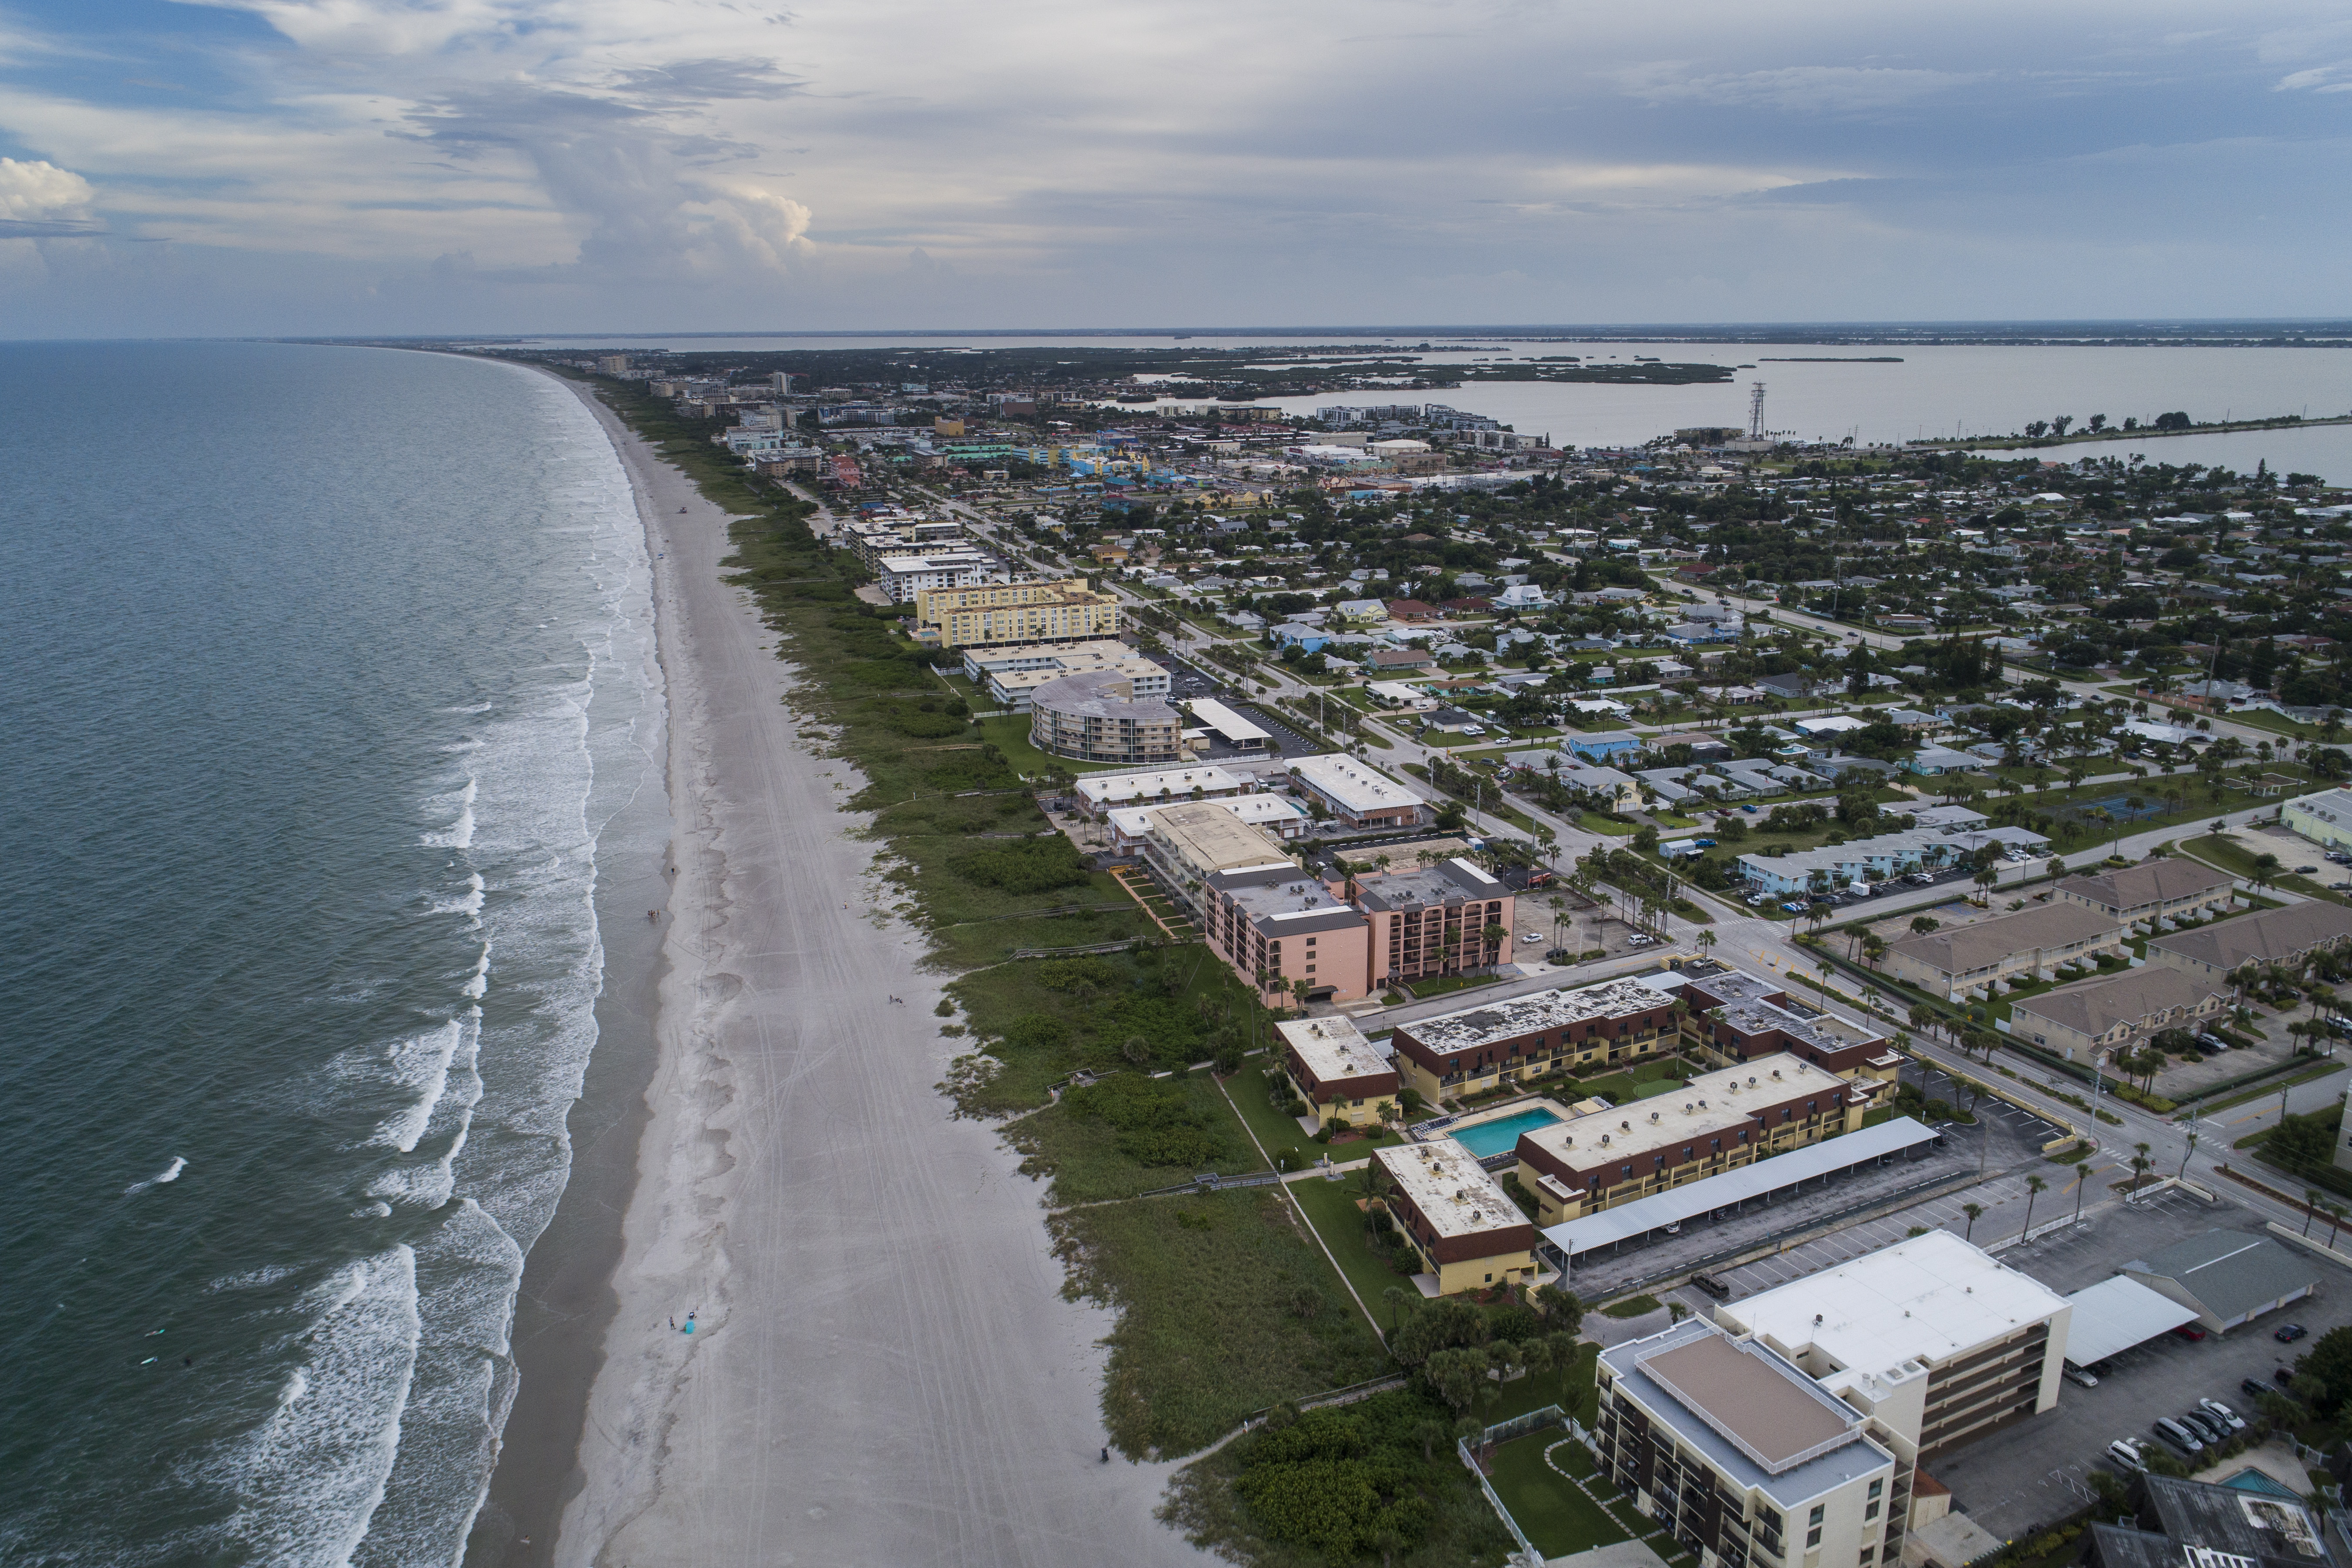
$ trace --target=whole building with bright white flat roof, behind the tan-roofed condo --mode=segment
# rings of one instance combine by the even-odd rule
[[[1771,1345],[1917,1460],[2053,1408],[2072,1309],[1931,1229],[1724,1302],[1715,1321]]]

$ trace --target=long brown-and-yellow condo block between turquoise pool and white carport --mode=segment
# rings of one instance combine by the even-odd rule
[[[1872,1091],[1795,1056],[1766,1056],[1703,1072],[1649,1100],[1519,1133],[1519,1185],[1536,1194],[1538,1225],[1566,1225],[1851,1133],[1870,1098]]]

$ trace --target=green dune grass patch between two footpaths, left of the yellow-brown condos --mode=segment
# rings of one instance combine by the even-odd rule
[[[1279,1192],[1073,1208],[1051,1227],[1063,1295],[1120,1312],[1103,1420],[1129,1458],[1192,1453],[1251,1410],[1388,1366]]]

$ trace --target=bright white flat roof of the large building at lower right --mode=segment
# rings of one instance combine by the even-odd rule
[[[1715,1316],[1736,1319],[1797,1361],[1818,1352],[1842,1368],[1879,1373],[1950,1361],[2060,1312],[2065,1298],[2042,1281],[1931,1229],[1726,1302]]]

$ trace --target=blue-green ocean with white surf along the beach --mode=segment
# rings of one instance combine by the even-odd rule
[[[628,482],[510,367],[0,346],[0,1561],[452,1563],[661,792]]]

